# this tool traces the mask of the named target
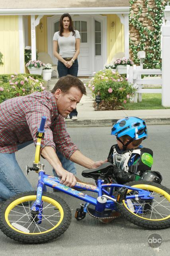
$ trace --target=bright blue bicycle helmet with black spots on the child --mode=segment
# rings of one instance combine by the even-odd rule
[[[133,140],[146,139],[147,126],[145,121],[139,117],[129,116],[119,119],[111,129],[111,135],[119,138],[124,135],[130,136]]]

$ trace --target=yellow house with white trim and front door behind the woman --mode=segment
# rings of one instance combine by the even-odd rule
[[[25,46],[33,57],[37,49],[57,64],[53,35],[66,12],[81,35],[79,76],[102,69],[118,52],[129,57],[129,0],[0,0],[0,74],[25,72]]]

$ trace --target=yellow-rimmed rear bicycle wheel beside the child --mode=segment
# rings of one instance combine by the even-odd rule
[[[135,199],[123,200],[119,205],[122,215],[137,226],[147,229],[170,227],[170,190],[154,182],[134,181],[127,186],[141,188],[150,192],[153,199],[143,200],[137,197],[137,191],[128,190],[127,195],[136,195]]]

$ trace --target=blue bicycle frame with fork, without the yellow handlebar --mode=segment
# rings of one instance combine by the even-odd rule
[[[93,204],[94,206],[96,206],[95,209],[98,212],[103,212],[105,210],[105,208],[110,209],[110,210],[116,210],[117,202],[115,200],[115,197],[112,195],[114,188],[126,187],[129,190],[137,191],[139,193],[138,198],[152,199],[152,197],[150,196],[150,192],[148,192],[146,190],[142,190],[139,188],[133,188],[133,187],[125,186],[125,185],[121,185],[121,184],[103,184],[103,182],[104,182],[104,180],[99,179],[97,186],[77,182],[76,185],[74,186],[74,188],[82,188],[87,191],[95,192],[96,194],[98,194],[98,197],[103,196],[103,194],[107,195],[112,200],[108,199],[105,204],[101,204],[100,202],[98,202],[97,198],[94,198],[93,196],[84,194],[80,191],[77,191],[74,188],[64,186],[63,184],[60,183],[59,178],[57,178],[55,176],[47,175],[47,174],[45,174],[44,171],[39,171],[38,186],[37,186],[37,198],[36,198],[35,202],[33,203],[31,210],[41,212],[41,208],[42,208],[41,198],[42,198],[43,191],[46,191],[46,186],[55,188],[61,192],[64,192],[65,194],[68,194],[70,196],[73,196],[75,198],[85,201],[86,204],[84,207],[84,212],[86,212],[86,207],[88,206],[88,204]],[[111,188],[111,189],[109,192],[107,192],[107,190],[105,190],[105,188]],[[136,195],[126,196],[126,200],[134,199],[134,198],[136,198]],[[113,200],[115,200],[115,202],[113,202]],[[42,214],[40,213],[39,214],[39,224],[41,221],[41,216],[42,216]]]

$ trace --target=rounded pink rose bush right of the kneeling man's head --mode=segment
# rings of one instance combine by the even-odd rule
[[[121,77],[117,71],[110,69],[96,72],[87,86],[92,90],[94,97],[98,93],[100,94],[102,99],[100,108],[102,110],[123,108],[123,104],[129,101],[136,90],[133,84],[127,81],[127,78]]]

